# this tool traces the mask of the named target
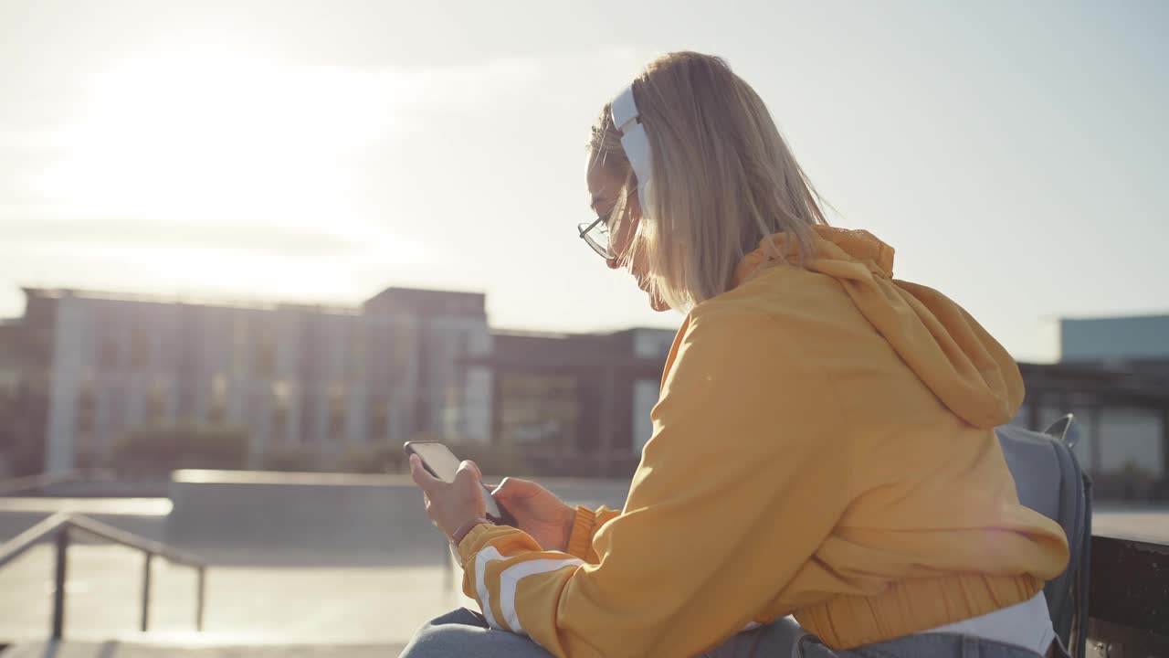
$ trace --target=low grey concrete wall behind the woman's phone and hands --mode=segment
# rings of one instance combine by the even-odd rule
[[[621,507],[628,482],[553,480],[566,501]],[[179,471],[166,541],[224,563],[397,564],[445,557],[403,475]]]

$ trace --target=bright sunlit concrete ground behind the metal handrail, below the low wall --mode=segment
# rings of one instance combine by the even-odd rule
[[[144,636],[138,632],[141,564],[139,554],[120,547],[71,547],[65,637],[195,647],[360,643],[385,649],[404,644],[426,621],[468,604],[454,582],[461,574],[445,571],[441,560],[431,567],[408,568],[213,567],[207,575],[205,632],[195,633],[194,573],[155,561],[151,632]],[[0,639],[44,639],[51,595],[48,546],[0,570]]]

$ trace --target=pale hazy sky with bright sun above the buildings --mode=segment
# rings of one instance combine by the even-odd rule
[[[1016,358],[1169,313],[1169,4],[0,0],[0,317],[22,286],[676,328],[576,235],[653,56],[726,57],[833,224]]]

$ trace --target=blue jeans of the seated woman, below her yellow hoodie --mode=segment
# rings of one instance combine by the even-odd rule
[[[1057,639],[1059,658],[1067,652]],[[459,609],[434,619],[414,636],[400,658],[549,658],[552,654],[531,639],[487,628],[478,612]],[[835,651],[801,629],[790,618],[743,631],[703,658],[1036,658],[1033,651],[976,637],[949,633],[913,635]]]

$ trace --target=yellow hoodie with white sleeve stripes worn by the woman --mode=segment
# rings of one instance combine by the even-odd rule
[[[761,245],[686,317],[622,512],[579,509],[567,554],[510,527],[463,539],[463,590],[493,628],[556,656],[672,657],[794,614],[849,649],[1063,571],[1063,530],[1018,503],[992,431],[1023,402],[1015,362],[893,280],[871,234],[817,237],[803,268]]]

